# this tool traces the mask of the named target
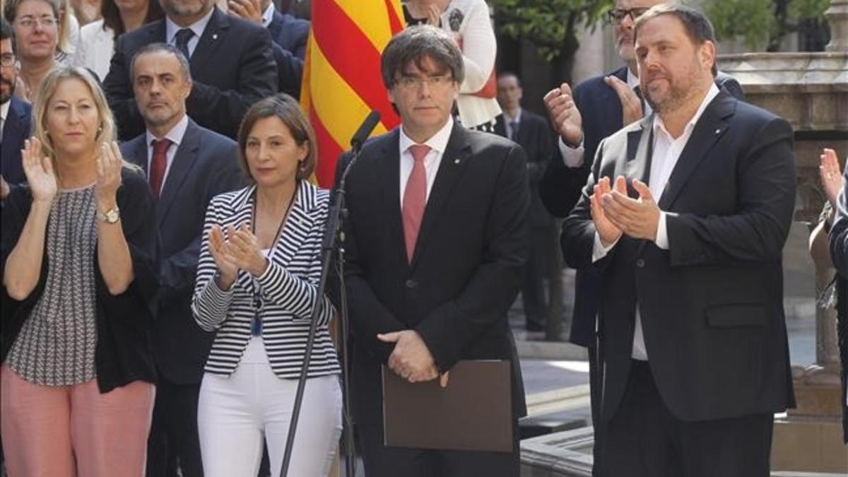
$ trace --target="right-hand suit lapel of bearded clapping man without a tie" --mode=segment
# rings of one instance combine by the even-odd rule
[[[734,114],[735,109],[736,99],[727,92],[718,93],[718,96],[704,109],[657,202],[661,210],[668,210],[674,203],[674,199],[677,199],[689,176],[704,160],[718,138],[722,137],[722,133],[727,130],[726,119]]]

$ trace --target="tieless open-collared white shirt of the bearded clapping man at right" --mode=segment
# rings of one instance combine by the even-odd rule
[[[654,129],[654,149],[650,160],[650,178],[648,180],[648,188],[650,194],[654,196],[655,201],[659,201],[662,196],[662,191],[666,188],[668,178],[672,176],[674,166],[677,165],[680,159],[680,153],[689,142],[689,137],[692,136],[692,131],[695,130],[695,125],[700,120],[700,116],[704,114],[704,109],[718,95],[718,87],[713,83],[710,90],[706,93],[704,100],[701,101],[698,110],[692,119],[683,127],[683,133],[677,138],[672,137],[662,122],[660,115],[654,116],[652,127]],[[657,247],[663,250],[668,250],[668,233],[666,228],[666,212],[660,211],[660,222],[656,227],[656,240],[654,243]],[[599,261],[616,246],[618,242],[604,247],[600,242],[600,235],[594,233],[594,250],[592,250],[592,261]],[[642,318],[639,313],[639,304],[636,307],[636,327],[633,330],[633,351],[631,357],[641,361],[648,360],[648,349],[644,345],[644,334],[642,332]]]

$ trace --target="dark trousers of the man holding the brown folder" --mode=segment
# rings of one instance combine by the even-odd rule
[[[518,422],[513,422],[518,432]],[[357,424],[368,477],[518,477],[518,439],[513,452],[432,451],[383,446],[382,426]]]

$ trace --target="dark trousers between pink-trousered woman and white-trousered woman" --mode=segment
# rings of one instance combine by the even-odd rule
[[[200,384],[174,384],[159,375],[148,437],[147,477],[203,477],[198,437]]]

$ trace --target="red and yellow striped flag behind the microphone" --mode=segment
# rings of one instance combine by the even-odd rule
[[[330,188],[338,155],[372,109],[382,134],[399,124],[380,76],[380,54],[403,29],[399,0],[312,0],[300,104],[318,142],[315,176]]]

